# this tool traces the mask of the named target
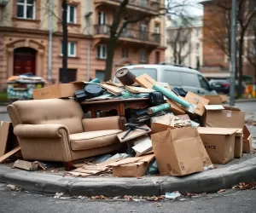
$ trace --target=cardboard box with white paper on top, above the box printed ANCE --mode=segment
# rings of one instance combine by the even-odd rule
[[[203,126],[218,128],[243,128],[245,112],[241,111],[239,108],[229,106],[223,107],[221,105],[208,105],[205,107],[206,113],[203,117]]]

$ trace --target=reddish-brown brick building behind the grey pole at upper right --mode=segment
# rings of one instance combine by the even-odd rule
[[[256,9],[255,1],[247,1],[245,10],[241,9],[241,14],[249,14],[250,9]],[[230,58],[228,56],[228,47],[229,39],[227,27],[228,25],[228,13],[224,10],[225,7],[220,7],[220,3],[225,3],[226,7],[229,7],[231,1],[222,2],[219,0],[207,0],[201,2],[204,6],[204,27],[203,27],[203,63],[201,66],[201,72],[204,72],[204,75],[207,78],[230,78]],[[247,10],[248,9],[248,10]],[[242,55],[243,63],[243,80],[247,83],[256,82],[256,63],[255,67],[249,63],[247,56],[255,57],[255,25],[256,17],[254,17],[250,22],[247,28],[247,32],[244,36],[244,52]],[[239,23],[237,23],[237,33],[239,35],[241,28]],[[237,37],[237,43],[238,43]],[[237,52],[237,61],[238,61],[238,52]],[[255,60],[253,59],[253,60]]]

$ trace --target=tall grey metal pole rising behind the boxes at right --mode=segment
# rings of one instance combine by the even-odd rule
[[[230,106],[235,105],[236,85],[236,0],[232,0],[231,57],[230,57]]]

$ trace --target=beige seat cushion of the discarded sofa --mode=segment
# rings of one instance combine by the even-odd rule
[[[119,141],[117,134],[122,130],[89,131],[70,135],[71,149],[85,150],[105,147]]]

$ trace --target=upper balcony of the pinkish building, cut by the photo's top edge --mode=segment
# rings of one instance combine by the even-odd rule
[[[159,0],[160,1],[160,0]],[[144,14],[158,14],[160,3],[157,0],[130,0],[126,9],[131,9],[135,12],[140,11]],[[96,7],[114,6],[118,7],[122,0],[94,0]]]

